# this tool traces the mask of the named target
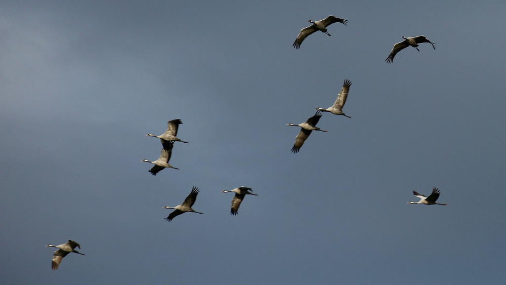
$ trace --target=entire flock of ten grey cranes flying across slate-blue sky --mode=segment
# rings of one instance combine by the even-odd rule
[[[338,17],[334,17],[334,16],[328,16],[327,18],[320,20],[320,21],[316,21],[316,22],[309,20],[309,22],[312,23],[312,25],[305,27],[300,31],[295,42],[293,43],[293,48],[300,49],[301,44],[304,41],[304,39],[316,31],[321,31],[321,32],[326,33],[327,35],[330,36],[330,33],[328,33],[327,28],[326,28],[330,24],[333,24],[333,23],[342,23],[344,25],[348,24],[347,20],[341,19]],[[415,48],[417,51],[420,51],[420,50],[418,50],[418,44],[429,43],[432,45],[432,47],[434,49],[436,49],[436,47],[434,46],[435,43],[432,43],[424,35],[419,35],[419,36],[415,36],[415,37],[402,36],[402,38],[404,38],[404,40],[402,42],[399,42],[394,45],[392,51],[390,52],[390,55],[385,60],[385,61],[387,61],[387,63],[392,63],[395,55],[399,51],[401,51],[402,49],[407,48],[409,46]],[[351,118],[351,116],[348,116],[343,112],[343,107],[346,103],[346,99],[347,99],[348,93],[350,91],[350,86],[351,86],[351,81],[349,79],[345,79],[343,87],[341,88],[341,91],[339,92],[338,97],[336,98],[336,100],[332,106],[330,106],[326,109],[325,108],[315,108],[317,110],[316,113],[312,117],[308,118],[304,123],[301,123],[299,125],[287,124],[287,126],[295,126],[295,127],[301,128],[301,131],[297,135],[297,137],[295,139],[295,143],[293,144],[293,147],[291,148],[291,152],[298,153],[300,151],[302,145],[308,139],[308,137],[312,131],[327,132],[324,130],[320,130],[320,128],[316,127],[316,124],[318,124],[318,121],[322,117],[322,112],[329,112],[329,113],[332,113],[335,115],[343,115],[348,118]],[[182,124],[183,124],[183,121],[181,119],[173,119],[173,120],[170,120],[167,122],[167,129],[166,129],[165,133],[163,133],[159,136],[156,136],[153,134],[146,135],[149,137],[159,138],[161,141],[161,144],[162,144],[161,153],[160,153],[160,156],[158,157],[157,160],[154,160],[154,161],[149,161],[147,159],[141,160],[144,162],[149,162],[151,164],[154,164],[154,166],[149,170],[149,172],[152,175],[156,175],[158,172],[162,171],[165,168],[178,169],[178,168],[171,166],[168,163],[168,161],[171,159],[172,150],[173,150],[175,142],[188,143],[187,141],[183,141],[177,137],[179,125],[182,125]],[[258,194],[252,193],[252,191],[253,190],[250,187],[245,187],[245,186],[237,187],[233,190],[222,191],[222,193],[228,193],[228,192],[235,193],[234,197],[232,198],[232,206],[230,209],[230,213],[232,215],[234,215],[234,216],[237,215],[238,210],[239,210],[239,206],[241,205],[241,202],[244,199],[244,196],[258,195]],[[173,209],[174,210],[173,212],[171,212],[171,214],[169,214],[165,218],[165,220],[170,222],[175,217],[177,217],[181,214],[187,213],[187,212],[203,214],[201,212],[197,212],[192,209],[192,206],[194,205],[195,200],[197,199],[198,193],[199,193],[199,189],[196,186],[193,186],[190,194],[185,198],[185,200],[183,201],[183,203],[181,203],[181,205],[178,205],[176,207],[170,207],[170,206],[162,207],[163,209]],[[439,189],[436,187],[433,188],[432,193],[428,197],[426,197],[425,195],[419,194],[416,191],[413,191],[413,194],[416,197],[420,198],[420,200],[418,202],[409,201],[407,203],[409,203],[409,204],[424,204],[424,205],[443,205],[443,206],[446,205],[446,203],[437,203],[436,202],[437,199],[439,198],[439,194],[440,194]],[[53,254],[53,260],[52,260],[52,264],[51,264],[51,268],[53,270],[58,269],[58,267],[60,266],[61,260],[65,256],[67,256],[69,253],[76,253],[76,254],[80,254],[80,255],[85,255],[85,254],[79,253],[78,251],[75,250],[76,247],[78,249],[80,249],[81,247],[80,247],[79,243],[75,242],[72,239],[69,239],[68,242],[63,243],[62,245],[59,245],[59,246],[47,245],[46,247],[58,248],[58,250],[55,251]]]

